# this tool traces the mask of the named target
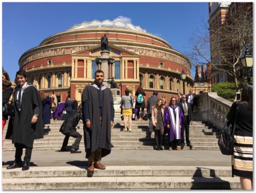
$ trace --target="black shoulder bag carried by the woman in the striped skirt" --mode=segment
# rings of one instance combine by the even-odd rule
[[[234,153],[234,133],[236,124],[235,122],[237,121],[238,110],[239,103],[237,102],[237,112],[235,113],[234,125],[232,125],[230,121],[228,121],[228,123],[224,125],[224,128],[219,135],[218,145],[221,154],[223,155],[233,155]]]

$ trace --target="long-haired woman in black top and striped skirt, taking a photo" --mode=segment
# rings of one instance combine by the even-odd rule
[[[234,124],[237,104],[233,103],[227,118]],[[245,84],[237,114],[232,155],[232,176],[240,176],[243,190],[253,188],[253,85]]]

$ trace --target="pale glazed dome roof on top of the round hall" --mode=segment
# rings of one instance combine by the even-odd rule
[[[145,29],[141,29],[140,26],[134,26],[131,23],[123,23],[123,22],[112,22],[109,19],[100,22],[98,20],[93,20],[92,22],[82,22],[80,24],[75,24],[67,31],[71,31],[74,29],[90,29],[90,28],[116,28],[116,29],[128,29],[131,31],[137,32],[146,32]]]

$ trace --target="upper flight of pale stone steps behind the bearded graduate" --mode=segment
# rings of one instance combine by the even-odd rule
[[[34,141],[33,150],[60,150],[64,135],[58,130],[61,127],[63,121],[51,121],[51,124],[45,125],[45,130],[50,130],[48,135],[44,135],[43,139],[37,139]],[[148,131],[149,121],[132,121],[132,132],[124,131],[124,124],[120,118],[115,119],[114,128],[111,131],[111,143],[114,145],[114,149],[129,149],[129,150],[151,150],[154,149],[155,139],[154,133],[149,135]],[[80,129],[77,129],[78,133],[83,135],[83,124],[78,124]],[[7,125],[4,128],[3,136],[6,135]],[[75,141],[74,138],[70,138],[68,146]],[[210,124],[203,124],[200,121],[194,121],[193,125],[190,125],[190,141],[193,144],[193,150],[219,150],[218,136],[214,128]],[[165,149],[168,149],[168,136],[165,136]],[[84,149],[83,138],[80,144],[80,150]],[[3,151],[15,150],[11,140],[4,139]],[[189,150],[188,146],[185,146],[183,150]]]

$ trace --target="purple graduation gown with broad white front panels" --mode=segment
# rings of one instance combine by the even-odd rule
[[[175,114],[173,112],[175,111]],[[170,129],[166,129],[169,135],[169,142],[175,139],[182,139],[181,129],[184,128],[184,115],[178,105],[174,108],[170,105],[164,109],[164,126],[170,125]],[[181,125],[181,127],[180,127]]]

